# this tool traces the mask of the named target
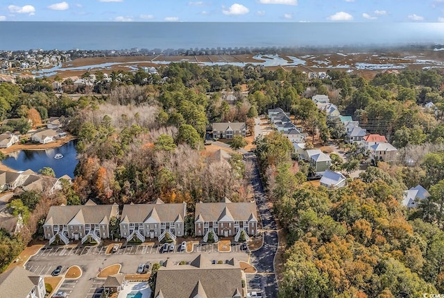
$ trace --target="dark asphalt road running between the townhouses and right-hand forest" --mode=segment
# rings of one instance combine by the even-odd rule
[[[276,281],[274,270],[274,258],[278,251],[278,232],[276,231],[276,222],[272,214],[272,210],[267,206],[267,199],[262,182],[259,176],[256,158],[250,158],[253,162],[253,192],[256,205],[262,217],[262,229],[264,229],[264,245],[251,253],[251,264],[257,269],[254,279],[259,279],[264,297],[278,297],[278,283]],[[250,284],[248,288],[254,288],[255,285]]]

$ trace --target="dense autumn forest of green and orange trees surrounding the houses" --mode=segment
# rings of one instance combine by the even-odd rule
[[[1,234],[7,256],[2,267],[38,235],[53,204],[160,197],[187,201],[191,212],[196,201],[248,199],[251,165],[237,154],[228,162],[204,158],[207,126],[241,121],[251,133],[253,117],[280,107],[312,140],[340,143],[343,125],[327,122],[310,99],[327,94],[342,115],[386,135],[400,158],[368,167],[344,188],[330,190],[306,182],[307,165],[294,166],[293,144],[281,133],[255,140],[262,179],[287,236],[280,297],[416,297],[444,290],[441,69],[385,72],[370,80],[336,70],[308,80],[296,69],[271,72],[253,65],[171,63],[158,71],[112,72],[111,80],[96,72],[94,88],[80,88],[85,96],[77,101],[53,93],[47,78],[0,84],[1,119],[63,116],[78,136],[79,160],[76,179],[62,192],[15,198],[12,207],[27,215],[26,229],[18,236]],[[70,81],[63,88],[74,92]],[[228,94],[232,99],[226,100]],[[427,102],[435,108],[423,108]],[[22,122],[6,129],[20,130]],[[345,172],[347,166],[334,163]],[[418,184],[431,197],[407,210],[400,204],[403,191]]]

